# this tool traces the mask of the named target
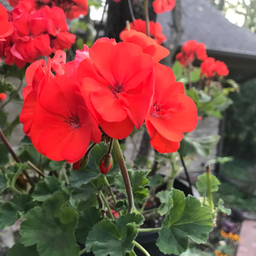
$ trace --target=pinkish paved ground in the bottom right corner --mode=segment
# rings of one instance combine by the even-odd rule
[[[243,221],[236,256],[256,256],[256,221]]]

